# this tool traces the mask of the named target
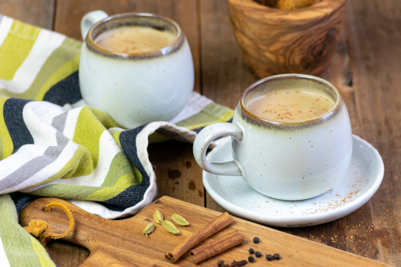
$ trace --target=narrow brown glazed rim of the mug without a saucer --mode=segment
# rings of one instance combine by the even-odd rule
[[[129,17],[155,18],[155,19],[164,21],[164,22],[172,25],[177,30],[177,36],[174,39],[174,41],[172,43],[170,43],[168,46],[160,48],[159,50],[155,50],[155,51],[151,51],[151,52],[143,52],[143,53],[119,53],[119,52],[101,48],[98,45],[96,45],[96,43],[92,39],[92,34],[98,26],[100,26],[103,23],[112,21],[112,20],[121,19],[121,18],[129,18]],[[89,29],[89,32],[85,38],[85,42],[87,43],[87,47],[90,51],[97,53],[97,54],[101,54],[102,56],[105,56],[108,58],[142,60],[142,59],[165,57],[167,55],[170,55],[170,54],[178,51],[184,43],[184,35],[181,31],[181,28],[178,26],[178,24],[176,22],[174,22],[173,20],[170,20],[166,17],[160,16],[160,15],[155,15],[155,14],[150,14],[150,13],[123,13],[123,14],[116,14],[116,15],[107,17],[106,19],[103,19],[103,20],[95,23],[94,25],[92,25],[92,27]]]

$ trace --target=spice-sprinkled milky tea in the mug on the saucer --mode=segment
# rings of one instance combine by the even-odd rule
[[[329,111],[334,102],[307,90],[283,90],[261,96],[247,105],[256,116],[274,121],[301,121]]]

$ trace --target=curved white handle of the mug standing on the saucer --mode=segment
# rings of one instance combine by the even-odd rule
[[[193,142],[193,156],[200,168],[217,175],[242,176],[241,164],[236,159],[224,163],[212,163],[206,159],[206,151],[216,138],[230,135],[241,141],[243,139],[241,128],[233,123],[220,122],[206,126],[200,131]]]

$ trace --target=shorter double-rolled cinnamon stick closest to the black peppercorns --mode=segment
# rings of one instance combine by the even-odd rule
[[[238,231],[234,231],[223,236],[220,239],[199,246],[190,252],[192,255],[193,263],[196,264],[207,258],[213,257],[214,255],[226,251],[229,248],[241,244],[242,242],[244,242],[244,240],[245,238],[243,234],[239,233]]]

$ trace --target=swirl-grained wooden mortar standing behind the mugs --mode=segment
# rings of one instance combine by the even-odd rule
[[[283,73],[316,75],[327,69],[345,20],[345,0],[279,10],[253,0],[228,0],[235,37],[260,78]]]

